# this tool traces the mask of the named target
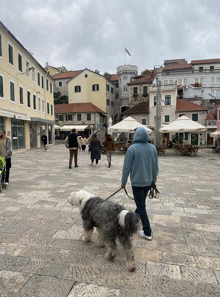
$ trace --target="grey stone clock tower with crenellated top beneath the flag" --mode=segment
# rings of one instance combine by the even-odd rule
[[[119,96],[117,99],[116,111],[122,113],[129,108],[128,103],[128,82],[132,82],[137,76],[138,67],[135,65],[123,65],[117,67]]]

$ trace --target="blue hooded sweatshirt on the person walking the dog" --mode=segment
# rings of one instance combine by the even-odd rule
[[[144,127],[138,127],[134,133],[134,144],[126,152],[123,171],[122,186],[128,181],[131,172],[131,185],[146,187],[155,184],[159,171],[158,154],[155,146],[148,143],[150,136]]]

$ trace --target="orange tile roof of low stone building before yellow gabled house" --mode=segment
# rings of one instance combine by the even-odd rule
[[[59,104],[56,104],[59,105]],[[66,112],[102,112],[106,113],[91,102],[83,102],[83,103],[66,103],[62,104],[62,106],[56,110],[56,113],[66,113]]]

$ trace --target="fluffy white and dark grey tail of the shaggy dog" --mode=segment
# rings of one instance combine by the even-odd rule
[[[139,215],[136,212],[122,210],[118,215],[118,223],[119,225],[129,233],[129,235],[133,235],[137,232],[137,227],[139,225]]]

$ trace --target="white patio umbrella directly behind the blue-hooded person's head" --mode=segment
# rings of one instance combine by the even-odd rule
[[[147,126],[140,124],[138,121],[131,117],[127,117],[119,123],[109,127],[108,132],[128,132],[129,138],[129,132],[134,133],[134,129],[136,129],[137,127],[144,127],[149,134],[153,132],[150,128],[147,128]]]

